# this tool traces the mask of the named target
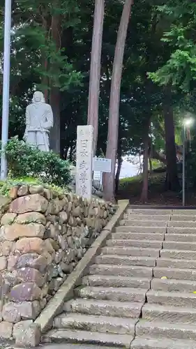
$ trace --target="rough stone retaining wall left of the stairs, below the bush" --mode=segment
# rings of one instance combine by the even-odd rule
[[[35,320],[110,220],[112,205],[43,186],[0,198],[0,338]]]

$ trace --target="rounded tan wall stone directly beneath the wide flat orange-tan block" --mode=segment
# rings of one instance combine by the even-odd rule
[[[39,237],[24,237],[16,242],[15,251],[22,254],[31,252],[43,254],[45,251],[45,242]]]

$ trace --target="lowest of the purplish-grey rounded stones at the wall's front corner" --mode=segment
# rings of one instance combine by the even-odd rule
[[[42,290],[35,283],[20,283],[10,290],[13,302],[34,301],[42,298]]]

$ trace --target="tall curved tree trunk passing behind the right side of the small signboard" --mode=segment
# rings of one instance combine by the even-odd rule
[[[119,31],[117,35],[114,53],[106,149],[106,158],[110,158],[112,160],[112,169],[110,173],[105,173],[103,176],[104,198],[107,201],[114,201],[114,177],[119,135],[119,102],[121,91],[121,75],[123,68],[123,54],[126,44],[128,22],[130,18],[130,10],[132,5],[133,0],[126,0],[123,5],[123,13],[121,15],[121,23],[119,25]]]

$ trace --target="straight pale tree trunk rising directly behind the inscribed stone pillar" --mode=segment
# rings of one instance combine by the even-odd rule
[[[104,0],[96,0],[91,48],[91,70],[89,81],[88,125],[94,129],[93,155],[96,154],[98,139],[98,107],[100,94],[100,57],[103,37]]]

